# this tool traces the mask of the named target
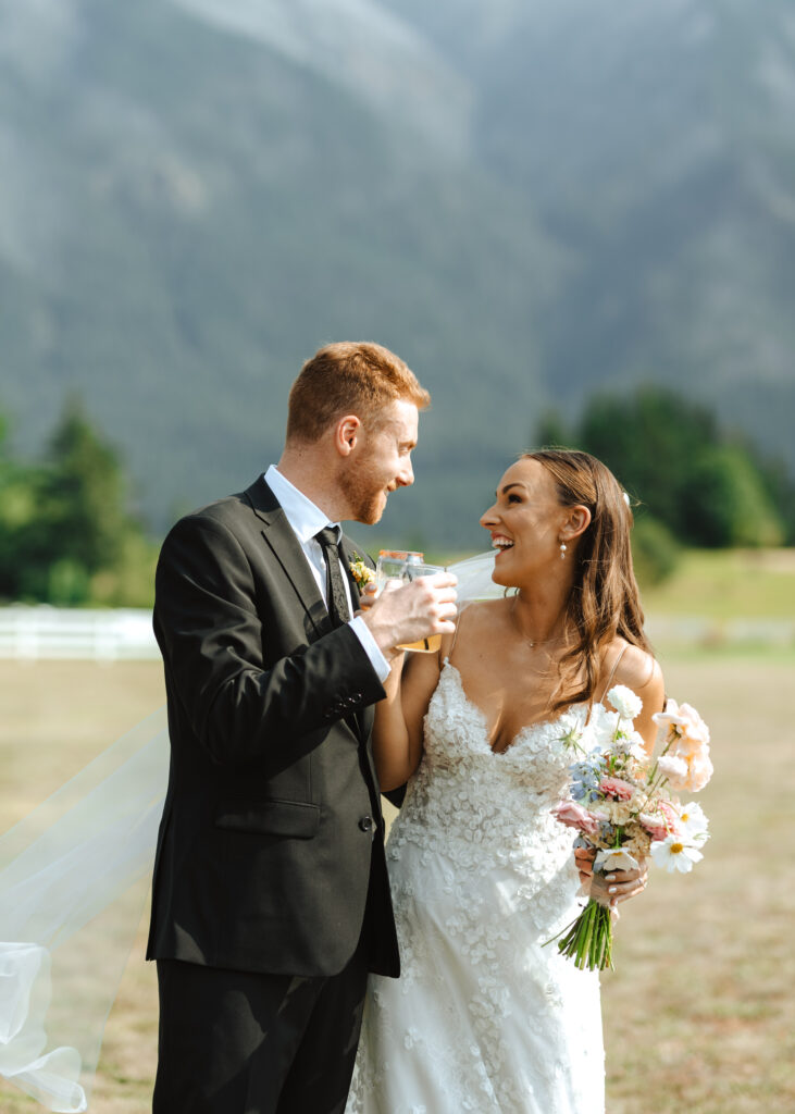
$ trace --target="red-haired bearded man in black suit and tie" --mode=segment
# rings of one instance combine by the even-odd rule
[[[454,578],[352,617],[359,555],[338,521],[377,522],[413,482],[429,401],[377,344],[321,349],[278,465],[163,546],[154,1114],[342,1112],[367,971],[399,974],[372,705],[398,644],[453,629]]]

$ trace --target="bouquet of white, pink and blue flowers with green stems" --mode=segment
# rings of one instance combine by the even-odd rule
[[[562,741],[578,759],[571,766],[570,795],[552,814],[579,832],[579,847],[596,850],[595,870],[637,870],[649,856],[667,870],[693,870],[703,859],[708,821],[700,805],[683,804],[677,794],[696,793],[709,781],[709,730],[694,707],[669,700],[654,716],[666,729],[655,760],[632,726],[641,700],[625,685],[616,685],[607,698],[615,712],[601,704],[592,709],[589,727],[596,744],[590,751],[581,745],[576,717],[561,717]],[[554,939],[581,970],[612,967],[610,909],[593,898]]]

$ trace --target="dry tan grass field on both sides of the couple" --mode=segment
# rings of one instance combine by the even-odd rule
[[[625,906],[603,977],[608,1114],[795,1110],[795,654],[660,654],[713,729],[713,839],[688,876]],[[0,827],[163,701],[154,663],[0,662]],[[91,1110],[145,1114],[157,1027],[144,929],[110,1015]],[[2,1114],[40,1107],[0,1083]],[[440,1114],[440,1112],[432,1112]]]

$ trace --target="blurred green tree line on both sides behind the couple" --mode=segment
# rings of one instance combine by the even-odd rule
[[[156,546],[128,509],[114,447],[69,400],[40,459],[20,460],[0,416],[0,599],[149,606]],[[550,413],[536,442],[585,449],[629,492],[644,583],[683,547],[795,544],[795,483],[722,430],[705,408],[659,388],[595,395],[572,426]]]

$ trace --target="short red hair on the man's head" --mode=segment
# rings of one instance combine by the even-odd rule
[[[316,441],[345,414],[355,414],[372,428],[379,412],[396,399],[424,410],[431,395],[394,352],[367,341],[326,344],[293,383],[287,440]]]

